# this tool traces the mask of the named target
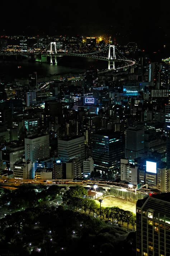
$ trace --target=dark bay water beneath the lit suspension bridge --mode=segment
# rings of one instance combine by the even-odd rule
[[[15,60],[14,58],[0,59],[0,75],[5,75],[7,82],[14,81],[14,78],[27,78],[29,73],[37,72],[38,76],[63,73],[83,73],[86,69],[106,68],[107,62],[82,57],[58,57],[57,64],[29,62],[27,59]],[[21,68],[18,68],[21,66]]]

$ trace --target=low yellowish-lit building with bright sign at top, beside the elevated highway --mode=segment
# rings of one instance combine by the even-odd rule
[[[17,179],[32,179],[32,162],[27,160],[25,162],[16,162],[13,166],[13,175]]]

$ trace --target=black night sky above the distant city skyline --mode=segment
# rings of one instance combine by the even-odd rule
[[[108,33],[114,37],[117,33],[120,43],[136,41],[155,49],[170,41],[169,6],[165,1],[3,1],[0,24],[1,35]]]

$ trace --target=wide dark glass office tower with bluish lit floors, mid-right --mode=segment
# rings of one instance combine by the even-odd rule
[[[108,173],[108,171],[118,171],[124,154],[121,133],[99,130],[91,135],[91,147],[94,168],[96,170],[105,173]]]

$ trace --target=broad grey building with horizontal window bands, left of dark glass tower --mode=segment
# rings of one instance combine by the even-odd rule
[[[85,158],[84,136],[58,138],[58,158],[65,163],[72,158],[79,158],[82,165]]]

